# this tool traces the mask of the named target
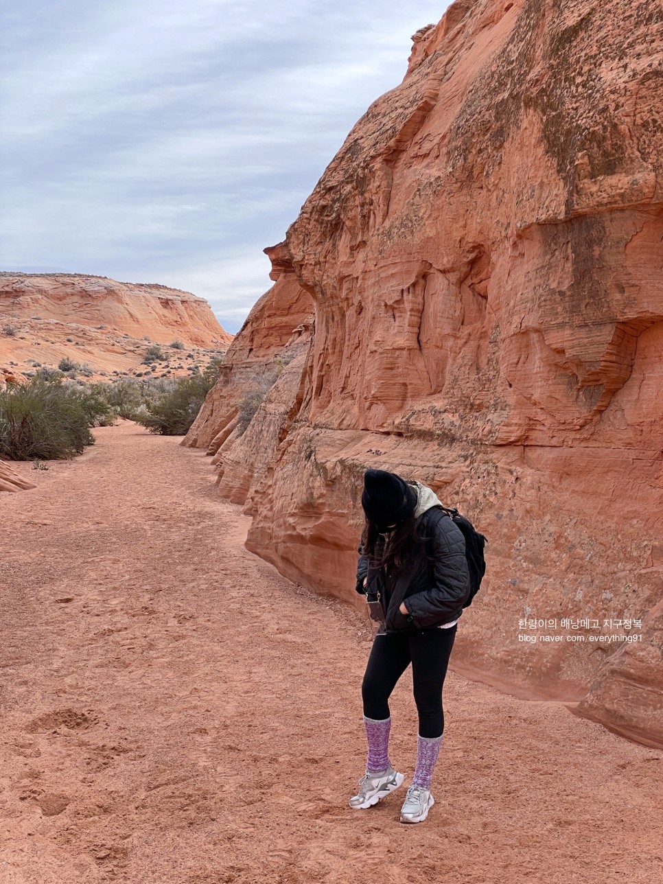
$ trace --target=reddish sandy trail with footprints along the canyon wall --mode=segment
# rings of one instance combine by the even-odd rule
[[[663,752],[453,672],[428,821],[351,810],[361,615],[244,549],[202,453],[95,432],[0,495],[2,884],[663,880]]]

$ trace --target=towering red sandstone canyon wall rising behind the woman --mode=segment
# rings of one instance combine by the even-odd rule
[[[663,746],[663,13],[459,0],[413,39],[187,444],[355,605],[363,470],[430,484],[489,538],[454,667]]]

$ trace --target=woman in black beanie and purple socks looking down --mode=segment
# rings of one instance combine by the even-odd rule
[[[465,539],[430,488],[383,469],[366,470],[362,507],[366,523],[356,590],[379,599],[384,625],[362,682],[368,757],[350,806],[377,804],[404,780],[389,760],[388,700],[412,663],[419,732],[415,775],[400,821],[418,823],[435,804],[431,777],[445,726],[442,686],[456,624],[469,598]]]

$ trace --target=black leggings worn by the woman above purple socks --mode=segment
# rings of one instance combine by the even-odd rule
[[[417,629],[375,636],[362,682],[366,718],[389,718],[389,697],[412,663],[419,735],[441,736],[445,729],[442,685],[458,624],[449,629]]]

